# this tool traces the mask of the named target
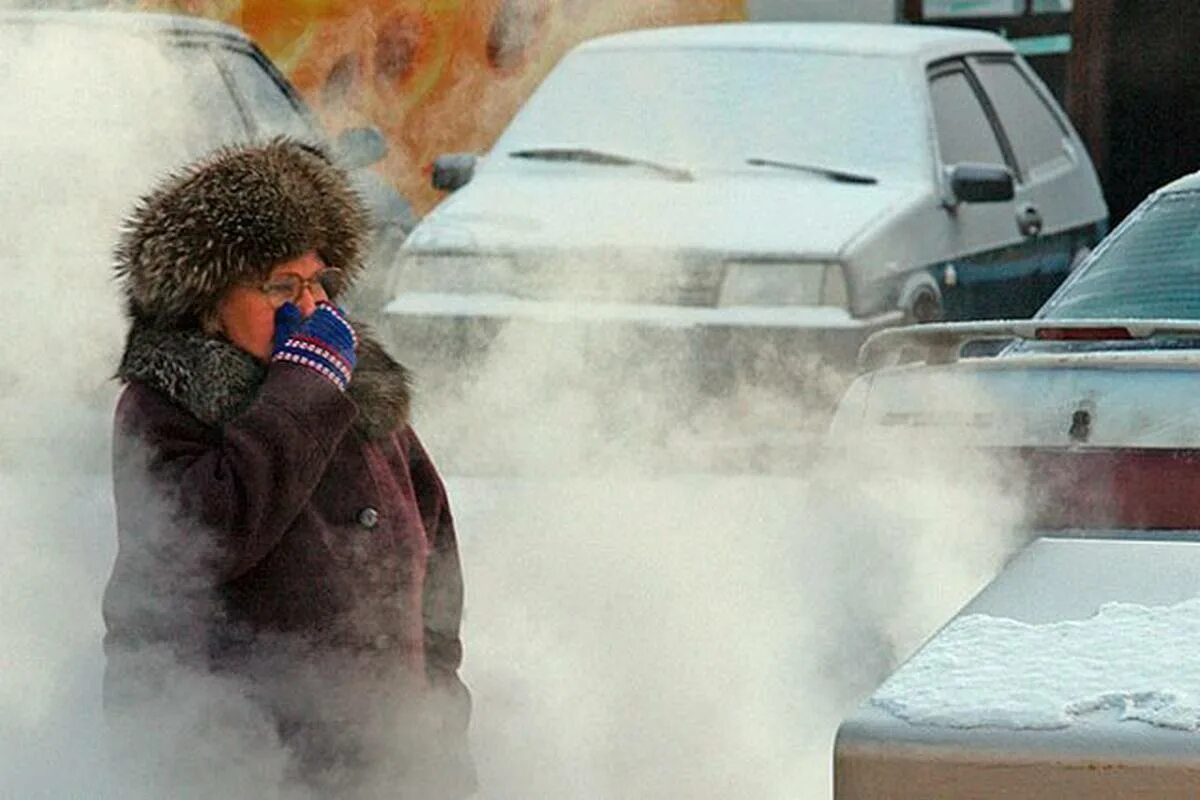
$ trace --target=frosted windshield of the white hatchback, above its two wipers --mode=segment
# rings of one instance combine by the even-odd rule
[[[551,73],[494,152],[583,148],[684,169],[754,158],[928,180],[922,98],[906,77],[904,61],[882,56],[583,50]]]

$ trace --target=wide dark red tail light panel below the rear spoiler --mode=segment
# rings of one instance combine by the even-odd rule
[[[1200,529],[1200,450],[1025,449],[1031,523],[1043,529]]]

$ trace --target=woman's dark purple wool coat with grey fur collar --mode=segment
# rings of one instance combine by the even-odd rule
[[[353,732],[384,696],[438,697],[412,738],[469,770],[455,527],[403,368],[364,337],[343,393],[134,326],[119,377],[106,704],[161,690],[167,652],[244,681],[302,760],[344,762],[353,735],[328,729]]]

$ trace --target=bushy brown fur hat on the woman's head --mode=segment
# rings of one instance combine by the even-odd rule
[[[346,173],[319,148],[278,137],[221,149],[143,197],[121,230],[116,277],[133,319],[186,327],[230,285],[308,251],[353,279],[367,228]]]

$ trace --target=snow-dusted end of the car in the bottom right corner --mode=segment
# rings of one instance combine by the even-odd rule
[[[838,732],[838,800],[1194,798],[1200,546],[1042,539]]]

